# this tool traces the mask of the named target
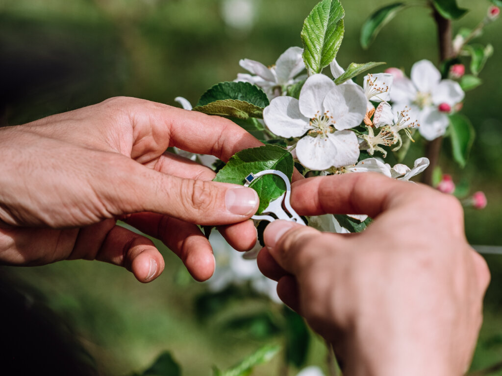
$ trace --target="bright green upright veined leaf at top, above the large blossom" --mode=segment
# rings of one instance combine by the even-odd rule
[[[309,74],[321,73],[336,58],[343,39],[345,11],[338,0],[322,0],[303,23],[303,60]]]

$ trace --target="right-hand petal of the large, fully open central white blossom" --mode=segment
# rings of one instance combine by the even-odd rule
[[[366,105],[366,96],[359,85],[335,86],[327,93],[323,103],[338,130],[358,126],[366,115]]]

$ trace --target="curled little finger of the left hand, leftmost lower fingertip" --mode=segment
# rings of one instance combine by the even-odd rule
[[[95,258],[125,267],[140,282],[151,282],[164,270],[164,259],[152,241],[120,226],[108,232]]]

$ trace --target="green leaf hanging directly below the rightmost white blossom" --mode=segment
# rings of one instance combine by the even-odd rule
[[[461,167],[465,167],[472,143],[474,142],[474,127],[464,115],[453,114],[449,118],[450,126],[448,127],[448,132],[451,140],[453,159]]]

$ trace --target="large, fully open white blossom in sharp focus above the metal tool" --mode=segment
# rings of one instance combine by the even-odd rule
[[[310,76],[300,99],[277,97],[263,112],[267,127],[281,137],[302,137],[298,160],[312,170],[354,164],[359,144],[354,132],[366,113],[366,97],[353,85],[336,84],[327,76]]]

